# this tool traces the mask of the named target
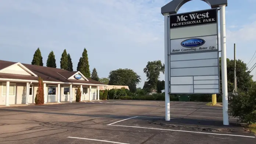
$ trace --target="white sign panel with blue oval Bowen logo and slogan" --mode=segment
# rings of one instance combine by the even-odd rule
[[[217,50],[217,36],[171,40],[171,53]]]

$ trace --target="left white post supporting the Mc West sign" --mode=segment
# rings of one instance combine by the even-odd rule
[[[170,121],[169,31],[169,14],[164,14],[164,93],[166,121]]]

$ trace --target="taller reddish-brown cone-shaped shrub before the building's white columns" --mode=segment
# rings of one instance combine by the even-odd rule
[[[38,89],[36,90],[35,104],[42,105],[45,103],[44,92],[43,92],[43,80],[38,78]]]

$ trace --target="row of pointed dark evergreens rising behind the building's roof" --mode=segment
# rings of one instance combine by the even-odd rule
[[[43,57],[39,48],[37,48],[37,50],[35,51],[31,64],[43,66]],[[51,68],[57,67],[56,59],[53,51],[51,51],[48,55],[46,66]],[[71,72],[73,71],[72,59],[70,54],[67,53],[66,49],[64,49],[63,53],[61,54],[60,68],[65,69],[67,71],[71,71]],[[81,72],[86,78],[91,78],[93,80],[99,81],[99,76],[96,68],[93,68],[92,74],[90,73],[88,54],[87,54],[86,48],[83,49],[82,57],[80,57],[79,59],[79,62],[77,65],[77,71]]]

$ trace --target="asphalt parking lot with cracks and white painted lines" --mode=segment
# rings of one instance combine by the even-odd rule
[[[0,108],[1,144],[241,144],[255,143],[222,108],[205,102],[108,100]]]

